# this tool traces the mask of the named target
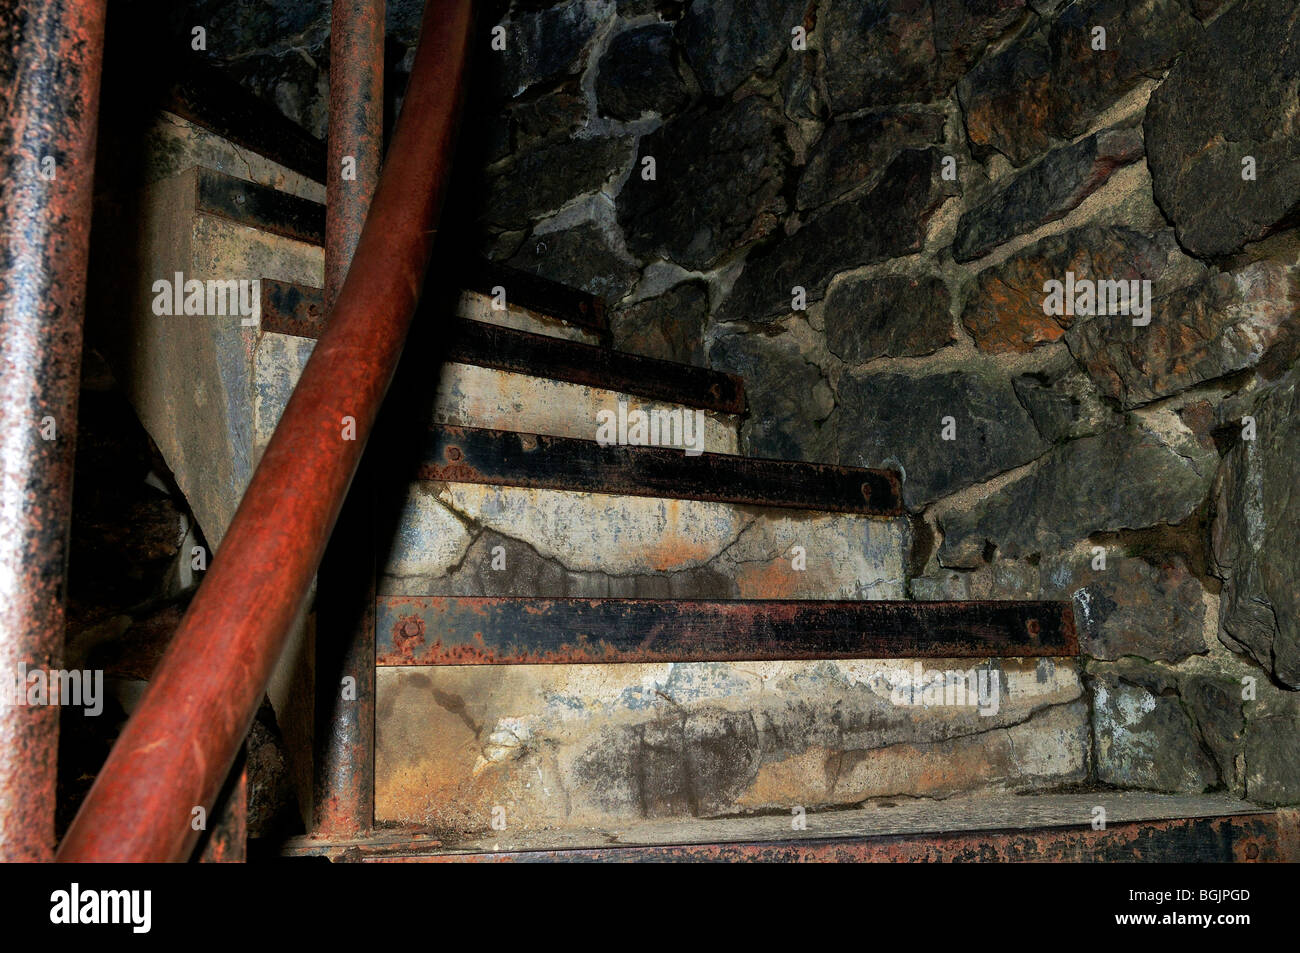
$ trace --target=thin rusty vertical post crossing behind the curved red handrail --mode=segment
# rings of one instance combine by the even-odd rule
[[[384,0],[330,9],[325,304],[348,273],[380,178]],[[326,325],[328,326],[328,325]],[[339,515],[316,594],[316,751],[312,833],[374,822],[374,482],[372,447]]]

